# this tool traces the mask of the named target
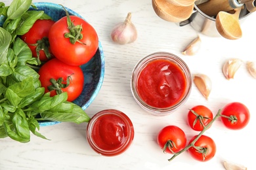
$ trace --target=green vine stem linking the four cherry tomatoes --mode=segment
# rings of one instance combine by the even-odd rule
[[[203,130],[198,134],[198,136],[192,141],[192,143],[188,144],[188,146],[186,146],[186,148],[180,150],[179,152],[173,154],[173,157],[171,157],[168,161],[173,160],[174,158],[176,158],[177,156],[179,156],[179,154],[181,154],[182,152],[188,150],[190,147],[195,147],[194,144],[196,143],[196,141],[198,141],[198,139],[203,135],[203,133],[211,126],[211,124],[213,124],[213,122],[215,120],[217,120],[217,118],[224,116],[221,114],[221,109],[219,109],[219,111],[217,112],[216,116],[213,118],[213,120],[211,120],[211,122],[209,122],[209,124],[207,124],[207,126],[203,127]],[[229,118],[229,117],[228,117]]]

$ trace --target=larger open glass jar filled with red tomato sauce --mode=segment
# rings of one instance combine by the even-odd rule
[[[135,101],[156,116],[165,116],[181,107],[188,99],[191,87],[188,65],[168,52],[156,52],[142,58],[131,76]]]

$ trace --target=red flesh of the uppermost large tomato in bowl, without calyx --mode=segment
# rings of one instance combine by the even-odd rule
[[[60,61],[70,65],[83,65],[87,63],[98,49],[98,35],[95,29],[77,16],[70,16],[74,25],[81,25],[83,38],[72,44],[69,38],[64,37],[69,33],[67,17],[60,18],[49,31],[49,42],[54,56]]]

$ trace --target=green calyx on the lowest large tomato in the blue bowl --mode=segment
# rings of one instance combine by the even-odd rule
[[[57,80],[51,78],[50,82],[52,85],[48,86],[47,88],[49,91],[56,90],[56,93],[60,94],[63,92],[62,88],[67,88],[70,85],[70,80],[72,80],[71,75],[67,77],[66,81],[64,81],[62,77],[58,78]]]

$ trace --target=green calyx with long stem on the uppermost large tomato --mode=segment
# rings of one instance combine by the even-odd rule
[[[70,39],[71,44],[75,44],[75,42],[79,42],[80,44],[86,45],[85,43],[80,41],[81,39],[83,39],[83,34],[81,34],[81,31],[83,30],[82,25],[74,25],[74,23],[70,19],[70,14],[68,14],[68,10],[66,10],[64,6],[62,7],[66,12],[67,24],[68,24],[68,30],[69,30],[68,33],[64,33],[64,37],[67,39]]]

